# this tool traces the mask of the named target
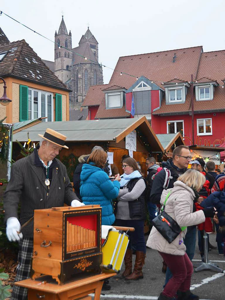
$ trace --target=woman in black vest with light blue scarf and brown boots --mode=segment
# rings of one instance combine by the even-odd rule
[[[143,278],[142,267],[145,260],[146,246],[144,238],[145,220],[145,179],[139,172],[137,162],[128,157],[123,160],[124,174],[121,176],[120,191],[117,197],[116,225],[134,227],[134,232],[129,232],[130,242],[125,253],[126,280]],[[132,272],[132,242],[136,246],[136,259]]]

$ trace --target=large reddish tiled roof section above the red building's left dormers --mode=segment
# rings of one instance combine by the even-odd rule
[[[137,79],[136,76],[145,76],[163,88],[162,82],[171,78],[190,80],[191,74],[196,77],[202,46],[175,49],[162,52],[153,52],[139,55],[120,57],[109,84],[129,88]],[[173,57],[176,58],[173,62]],[[121,72],[128,73],[120,75]]]

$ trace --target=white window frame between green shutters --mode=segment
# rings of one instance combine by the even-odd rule
[[[34,91],[38,92],[38,118],[41,118],[41,93],[45,93],[45,116],[46,119],[43,119],[44,122],[48,122],[48,97],[47,95],[52,96],[52,120],[49,122],[54,121],[54,103],[53,103],[53,93],[48,91],[42,91],[35,88],[28,88],[31,91],[31,119],[34,119]],[[28,100],[29,101],[29,100]]]

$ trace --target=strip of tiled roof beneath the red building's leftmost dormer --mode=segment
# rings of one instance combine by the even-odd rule
[[[130,117],[130,113],[125,111],[125,105],[122,108],[106,109],[106,101],[103,99],[98,108],[95,119],[116,119]]]

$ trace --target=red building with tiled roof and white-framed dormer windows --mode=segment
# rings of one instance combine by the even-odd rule
[[[217,146],[225,142],[224,70],[225,51],[202,46],[120,57],[109,84],[90,87],[83,105],[90,119],[129,118],[132,92],[134,117],[145,115],[156,134],[180,131],[186,145]]]

